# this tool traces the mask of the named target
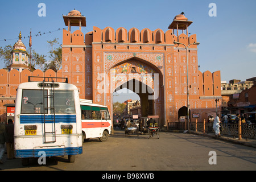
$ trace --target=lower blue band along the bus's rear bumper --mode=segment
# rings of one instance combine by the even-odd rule
[[[16,158],[39,158],[42,156],[41,151],[46,152],[46,157],[61,155],[79,155],[82,154],[82,147],[67,148],[40,148],[36,150],[15,150]]]

